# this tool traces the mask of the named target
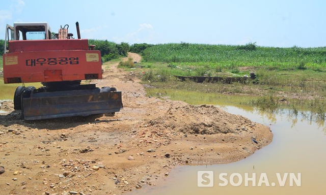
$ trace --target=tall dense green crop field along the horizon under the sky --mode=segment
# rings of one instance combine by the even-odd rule
[[[322,69],[326,67],[326,47],[275,48],[255,47],[239,49],[232,45],[158,44],[144,51],[144,60],[166,62],[177,66],[208,66],[225,69],[234,67],[268,67],[277,70],[297,68]]]

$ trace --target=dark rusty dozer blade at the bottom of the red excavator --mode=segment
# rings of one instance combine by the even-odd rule
[[[100,89],[41,92],[22,102],[24,119],[39,120],[119,112],[122,95],[121,91]]]

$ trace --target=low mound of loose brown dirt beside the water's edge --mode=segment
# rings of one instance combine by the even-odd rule
[[[148,124],[184,134],[238,133],[254,126],[248,118],[230,114],[213,105],[180,106],[175,102],[171,102],[165,116],[150,120]]]

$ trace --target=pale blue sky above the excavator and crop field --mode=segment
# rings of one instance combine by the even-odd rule
[[[326,46],[324,0],[0,1],[0,39],[6,24],[40,21],[75,38],[78,21],[83,39],[116,43]]]

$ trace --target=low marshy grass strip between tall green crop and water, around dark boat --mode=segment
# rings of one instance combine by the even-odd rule
[[[248,94],[261,94],[261,91],[278,92],[285,91],[290,93],[314,93],[319,96],[326,96],[326,75],[324,72],[317,72],[311,69],[306,70],[269,70],[266,68],[257,69],[223,69],[216,71],[209,67],[187,67],[187,66],[171,66],[167,63],[152,63],[142,62],[144,68],[134,70],[139,72],[143,82],[154,83],[156,86],[164,87],[165,85],[176,86],[179,82],[175,79],[174,75],[180,76],[220,76],[220,77],[233,77],[234,73],[239,76],[249,75],[254,71],[257,79],[248,80],[247,85],[239,83],[229,84],[214,84],[206,83],[206,86],[211,87],[211,91],[215,92],[237,92]],[[233,74],[232,74],[233,73]],[[164,82],[164,83],[159,83]],[[182,82],[181,82],[182,83]],[[182,85],[182,84],[180,84]],[[194,84],[195,86],[196,84]],[[205,91],[207,87],[199,87],[200,90]],[[255,90],[252,90],[255,89]],[[266,92],[264,92],[266,93]]]

